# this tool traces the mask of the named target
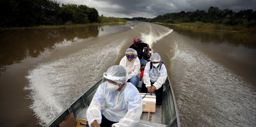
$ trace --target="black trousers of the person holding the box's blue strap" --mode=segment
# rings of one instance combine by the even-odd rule
[[[150,81],[151,82],[151,81]],[[153,86],[154,83],[151,82],[151,86]],[[147,87],[146,85],[142,82],[142,86],[141,86],[141,93],[147,93]],[[162,94],[163,94],[163,85],[158,89],[155,90],[155,94],[156,94],[156,103],[157,104],[162,104]]]

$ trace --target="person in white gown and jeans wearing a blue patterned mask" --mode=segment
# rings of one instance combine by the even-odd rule
[[[119,65],[129,68],[127,82],[130,82],[134,86],[137,86],[140,78],[140,61],[137,57],[137,51],[132,48],[128,48],[125,54],[126,56],[121,59]]]

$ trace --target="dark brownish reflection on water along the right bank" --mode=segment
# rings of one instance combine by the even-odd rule
[[[162,25],[162,24],[161,24]],[[200,39],[203,43],[227,43],[233,46],[244,45],[247,48],[255,48],[256,46],[256,35],[246,35],[236,32],[220,31],[220,30],[208,30],[191,27],[183,27],[176,25],[163,26],[174,29],[179,34],[190,37],[191,39]]]

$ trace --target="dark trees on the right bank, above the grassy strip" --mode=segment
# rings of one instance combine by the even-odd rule
[[[193,12],[181,11],[167,13],[164,15],[159,15],[152,19],[141,19],[142,17],[134,18],[140,18],[134,20],[170,24],[202,22],[224,24],[227,26],[239,25],[247,28],[256,27],[256,11],[253,11],[252,9],[234,12],[231,9],[220,10],[218,7],[210,7],[207,12],[204,10],[197,9]]]

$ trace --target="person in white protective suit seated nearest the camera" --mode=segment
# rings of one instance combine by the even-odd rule
[[[86,111],[86,127],[136,127],[143,101],[137,88],[127,82],[126,69],[114,65],[103,76],[107,81],[99,85]]]

